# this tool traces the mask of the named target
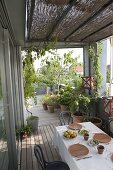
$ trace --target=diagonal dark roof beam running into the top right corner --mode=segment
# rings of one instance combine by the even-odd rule
[[[104,4],[101,9],[99,9],[96,13],[94,13],[92,16],[90,16],[86,21],[84,21],[81,25],[79,25],[75,30],[73,30],[69,35],[67,35],[65,37],[65,41],[72,35],[74,34],[76,31],[78,31],[80,28],[82,28],[84,25],[86,25],[87,23],[89,23],[91,20],[95,19],[101,12],[103,12],[105,10],[105,8],[107,8],[109,5],[111,5],[113,3],[113,0],[109,0],[106,4]]]

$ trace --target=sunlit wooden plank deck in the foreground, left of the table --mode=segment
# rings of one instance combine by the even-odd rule
[[[61,160],[58,151],[52,145],[54,127],[59,124],[39,126],[38,134],[32,135],[20,144],[20,170],[41,170],[34,155],[34,145],[40,144],[47,161]]]

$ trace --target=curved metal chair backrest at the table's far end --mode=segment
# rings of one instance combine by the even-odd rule
[[[59,120],[61,126],[66,125],[69,123],[72,123],[73,118],[72,118],[72,113],[70,111],[63,111],[59,114]]]

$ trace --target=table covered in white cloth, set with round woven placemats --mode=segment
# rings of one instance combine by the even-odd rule
[[[81,124],[83,129],[90,131],[89,139],[93,137],[94,133],[104,133],[91,122]],[[55,128],[53,144],[58,148],[62,160],[69,165],[70,170],[113,170],[113,161],[110,158],[111,153],[113,153],[113,139],[107,144],[102,144],[105,146],[104,153],[98,154],[97,148],[89,146],[82,135],[78,134],[74,139],[66,139],[63,137],[63,133],[67,129],[67,126],[58,126]],[[71,156],[68,152],[68,147],[76,143],[85,145],[89,149],[89,154],[87,156],[92,157],[77,161],[76,157]]]

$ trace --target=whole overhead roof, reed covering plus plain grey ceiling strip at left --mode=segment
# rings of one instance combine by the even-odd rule
[[[9,15],[10,24],[2,21],[3,26],[22,47],[54,37],[59,47],[84,46],[113,35],[112,0],[12,0],[6,4],[4,17]]]

